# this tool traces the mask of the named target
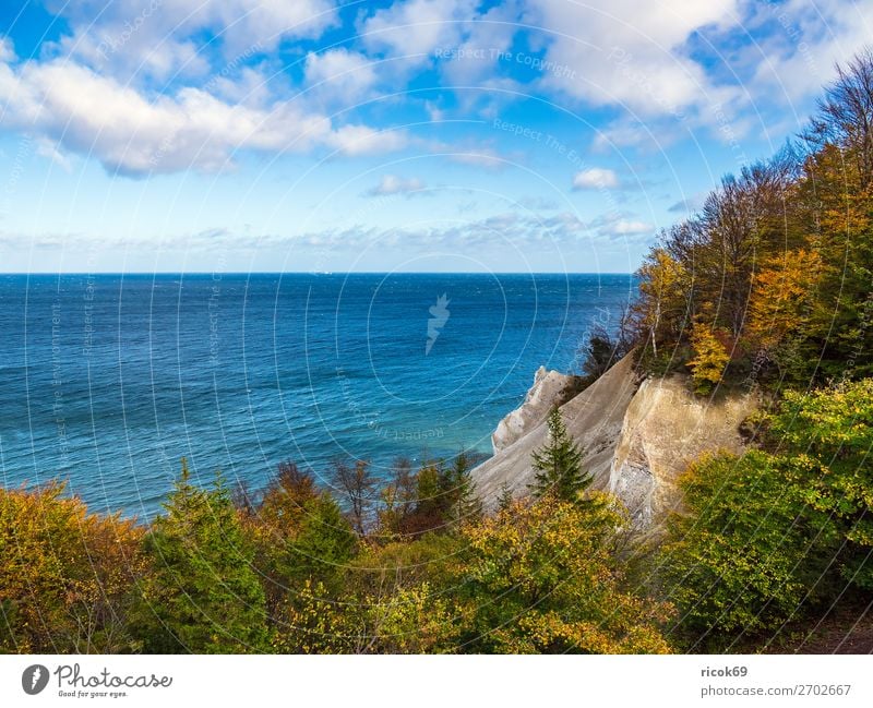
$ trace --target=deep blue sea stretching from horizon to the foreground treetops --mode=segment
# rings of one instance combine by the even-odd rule
[[[490,452],[629,275],[0,275],[2,483],[150,516],[187,457],[258,488],[292,459]],[[441,297],[444,296],[444,298]]]

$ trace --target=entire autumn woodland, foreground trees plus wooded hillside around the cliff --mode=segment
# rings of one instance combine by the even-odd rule
[[[806,129],[659,236],[589,381],[633,352],[696,395],[757,388],[742,455],[696,460],[641,538],[561,415],[530,494],[483,508],[465,454],[388,480],[184,460],[147,524],[63,484],[0,490],[0,651],[643,653],[786,647],[873,600],[873,53]],[[318,473],[316,473],[318,472]]]

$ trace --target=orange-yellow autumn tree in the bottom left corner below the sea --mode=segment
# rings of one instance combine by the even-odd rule
[[[63,493],[59,482],[0,489],[0,651],[130,651],[142,527]]]

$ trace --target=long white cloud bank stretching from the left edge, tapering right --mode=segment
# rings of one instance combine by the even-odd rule
[[[130,175],[189,168],[216,171],[240,149],[347,155],[391,151],[404,133],[366,125],[334,127],[299,103],[264,108],[227,104],[199,88],[150,99],[87,68],[55,60],[0,63],[0,125],[34,130],[64,151],[94,155],[109,170]]]

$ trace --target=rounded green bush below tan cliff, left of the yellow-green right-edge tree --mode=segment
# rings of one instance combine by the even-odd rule
[[[835,536],[806,505],[803,477],[753,449],[704,456],[680,478],[683,511],[668,519],[658,566],[689,650],[736,650],[822,598]]]

